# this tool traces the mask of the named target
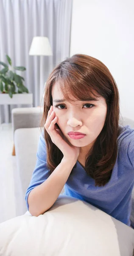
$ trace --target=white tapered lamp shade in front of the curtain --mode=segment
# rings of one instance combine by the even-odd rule
[[[48,38],[44,36],[33,37],[29,55],[53,55]]]

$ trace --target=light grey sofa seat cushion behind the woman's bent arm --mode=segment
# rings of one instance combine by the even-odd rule
[[[39,128],[15,130],[14,143],[17,160],[17,173],[14,176],[15,203],[17,216],[26,211],[25,192],[29,186],[36,165],[36,152],[41,132]]]

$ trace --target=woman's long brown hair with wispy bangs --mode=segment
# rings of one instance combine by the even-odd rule
[[[107,114],[105,124],[94,145],[86,155],[84,168],[87,175],[95,180],[95,186],[104,186],[110,180],[117,158],[117,137],[120,134],[119,92],[117,84],[109,69],[96,58],[75,54],[65,59],[53,69],[47,79],[44,111],[40,124],[41,130],[45,125],[50,106],[53,105],[51,92],[55,82],[58,82],[64,99],[69,102],[68,91],[70,95],[73,95],[78,100],[85,99],[85,96],[89,95],[95,97],[100,95],[106,99]],[[52,173],[61,163],[63,154],[52,142],[45,128],[42,136],[46,143],[47,166]]]

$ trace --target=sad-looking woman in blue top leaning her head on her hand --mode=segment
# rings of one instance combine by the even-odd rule
[[[101,61],[76,54],[54,68],[46,82],[44,131],[25,195],[32,215],[50,209],[64,187],[64,195],[130,226],[134,129],[119,124],[119,114],[116,82]]]

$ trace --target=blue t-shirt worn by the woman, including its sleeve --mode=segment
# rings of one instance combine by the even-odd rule
[[[134,129],[129,125],[119,126],[121,132],[117,138],[117,159],[109,182],[105,186],[95,187],[95,180],[87,175],[77,160],[76,167],[64,185],[64,195],[86,201],[130,226],[131,193],[134,186]],[[25,194],[28,210],[29,193],[51,174],[47,168],[46,155],[45,140],[40,135],[36,166]]]

